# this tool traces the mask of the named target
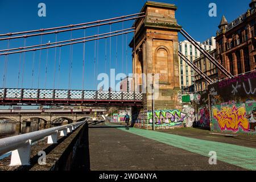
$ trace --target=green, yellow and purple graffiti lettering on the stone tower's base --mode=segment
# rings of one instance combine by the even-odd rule
[[[185,121],[186,114],[179,110],[156,110],[154,113],[156,125],[164,123],[171,124],[171,126],[178,126]],[[147,113],[148,123],[152,123],[152,112]]]

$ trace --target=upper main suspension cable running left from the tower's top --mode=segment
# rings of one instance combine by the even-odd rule
[[[125,16],[119,16],[119,17],[110,18],[110,19],[97,20],[97,21],[94,21],[94,22],[86,22],[86,23],[80,23],[80,24],[70,24],[68,26],[52,27],[52,28],[42,28],[42,29],[39,29],[39,30],[31,30],[31,31],[23,31],[23,32],[13,32],[13,33],[7,33],[7,34],[0,34],[0,36],[13,36],[13,35],[19,35],[19,34],[30,34],[30,33],[34,33],[34,32],[45,32],[45,31],[58,30],[58,29],[63,29],[63,28],[78,27],[78,26],[84,26],[86,24],[95,24],[95,23],[101,23],[101,22],[108,22],[110,20],[124,19],[124,18],[128,18],[128,17],[131,17],[131,16],[137,16],[137,15],[142,15],[142,14],[144,14],[144,12],[136,13],[136,14],[131,14],[131,15],[125,15]]]

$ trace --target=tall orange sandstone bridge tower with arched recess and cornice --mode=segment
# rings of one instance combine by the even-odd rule
[[[158,88],[155,110],[181,110],[177,100],[180,92],[177,35],[181,27],[175,19],[176,10],[175,5],[148,1],[141,10],[146,17],[134,24],[136,31],[129,45],[133,48],[133,73],[146,75],[134,79],[135,90],[146,93],[143,107],[133,109],[135,127],[152,127],[148,119],[148,113],[152,112],[152,74],[159,76],[154,76],[158,78],[155,84],[155,88]]]

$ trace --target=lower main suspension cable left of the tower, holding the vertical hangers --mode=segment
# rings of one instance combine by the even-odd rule
[[[91,42],[91,41],[94,41],[94,40],[98,40],[98,39],[105,39],[105,38],[109,38],[110,36],[113,37],[113,36],[119,36],[119,35],[122,35],[122,34],[129,34],[131,32],[134,32],[135,30],[131,30],[131,31],[125,31],[125,32],[121,32],[121,33],[117,33],[117,34],[112,34],[112,35],[108,35],[108,36],[101,36],[99,38],[97,38],[97,35],[94,35],[93,37],[96,37],[96,38],[93,38],[93,39],[88,39],[88,40],[81,40],[81,41],[77,41],[75,42],[74,39],[71,39],[71,40],[68,40],[67,42],[70,42],[70,43],[66,43],[66,44],[57,44],[57,45],[54,45],[54,46],[47,46],[47,47],[40,47],[40,48],[34,48],[34,49],[26,49],[26,50],[22,50],[22,51],[14,51],[14,52],[4,52],[4,53],[0,53],[0,56],[1,55],[11,55],[11,54],[14,54],[14,53],[19,53],[19,52],[31,52],[31,51],[38,51],[40,49],[49,49],[49,48],[55,48],[55,47],[64,47],[64,46],[70,46],[70,45],[73,45],[73,44],[80,44],[80,43],[84,43],[84,42]],[[115,33],[115,32],[114,32]],[[108,33],[109,34],[109,33]],[[84,38],[80,38],[80,39],[84,39]],[[65,41],[66,42],[66,41]],[[50,43],[49,43],[50,44]],[[55,43],[54,43],[55,44]],[[47,44],[48,45],[48,44]],[[22,48],[22,49],[25,49],[26,47]]]

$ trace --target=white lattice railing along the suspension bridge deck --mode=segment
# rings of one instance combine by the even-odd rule
[[[0,101],[61,101],[61,102],[142,102],[139,92],[108,92],[90,90],[0,89]],[[53,102],[52,102],[53,103]]]

